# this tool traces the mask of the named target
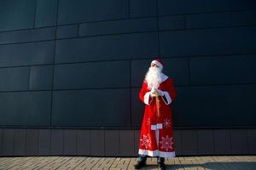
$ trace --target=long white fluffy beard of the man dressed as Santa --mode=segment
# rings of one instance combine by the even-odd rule
[[[145,81],[148,82],[148,89],[158,88],[162,82],[161,69],[157,67],[149,67],[145,76]]]

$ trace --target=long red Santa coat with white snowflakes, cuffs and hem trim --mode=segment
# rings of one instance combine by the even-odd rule
[[[143,82],[139,98],[145,104],[143,124],[140,135],[139,154],[148,156],[174,157],[174,142],[172,133],[172,106],[176,97],[172,79],[163,75],[163,82],[158,89],[164,92],[160,99],[160,116],[157,116],[155,97],[151,98],[148,83]]]

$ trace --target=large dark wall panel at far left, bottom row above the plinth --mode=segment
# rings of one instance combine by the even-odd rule
[[[1,125],[49,126],[50,92],[0,93]]]

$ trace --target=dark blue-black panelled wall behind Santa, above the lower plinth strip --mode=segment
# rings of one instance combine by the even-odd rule
[[[253,0],[2,0],[0,125],[139,127],[160,54],[174,127],[255,127],[255,44]]]

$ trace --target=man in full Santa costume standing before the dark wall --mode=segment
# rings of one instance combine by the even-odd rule
[[[176,91],[163,70],[161,59],[154,59],[143,81],[139,99],[145,104],[136,169],[146,165],[147,156],[156,156],[160,169],[166,169],[165,157],[174,157],[172,102]]]

